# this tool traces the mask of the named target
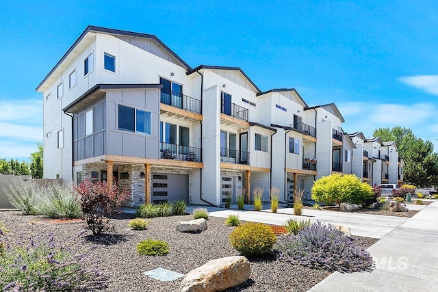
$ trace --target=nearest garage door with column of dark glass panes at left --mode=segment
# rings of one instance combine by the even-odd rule
[[[187,174],[152,174],[152,202],[175,202],[189,198]]]

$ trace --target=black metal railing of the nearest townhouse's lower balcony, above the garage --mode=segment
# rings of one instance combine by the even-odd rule
[[[183,161],[203,161],[203,148],[161,142],[160,158]]]

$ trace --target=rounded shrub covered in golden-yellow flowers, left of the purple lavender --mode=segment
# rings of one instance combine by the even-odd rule
[[[237,226],[230,235],[231,246],[244,256],[261,256],[271,251],[276,241],[270,226],[246,222]]]

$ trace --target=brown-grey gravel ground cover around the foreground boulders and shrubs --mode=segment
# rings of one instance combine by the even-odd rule
[[[75,237],[75,249],[88,249],[90,258],[98,260],[101,269],[110,279],[105,291],[179,291],[181,279],[161,282],[142,275],[144,271],[162,267],[181,274],[207,263],[214,258],[233,256],[239,253],[231,248],[229,235],[234,227],[224,226],[224,219],[211,217],[208,229],[203,233],[179,233],[175,226],[179,221],[191,220],[191,215],[157,217],[151,220],[146,230],[131,230],[127,224],[131,215],[123,214],[112,220],[111,231],[98,237],[92,237],[91,231],[83,231],[83,224],[49,224],[38,216],[24,216],[18,211],[0,212],[0,221],[10,232],[12,240],[25,241],[53,233],[55,239],[65,241]],[[170,252],[166,256],[140,256],[136,244],[144,239],[166,241]],[[368,248],[378,239],[353,237],[357,245]],[[66,241],[68,242],[68,241]],[[249,258],[250,279],[227,291],[307,291],[320,282],[328,271],[309,269],[300,265],[291,265],[275,261],[274,256]]]

